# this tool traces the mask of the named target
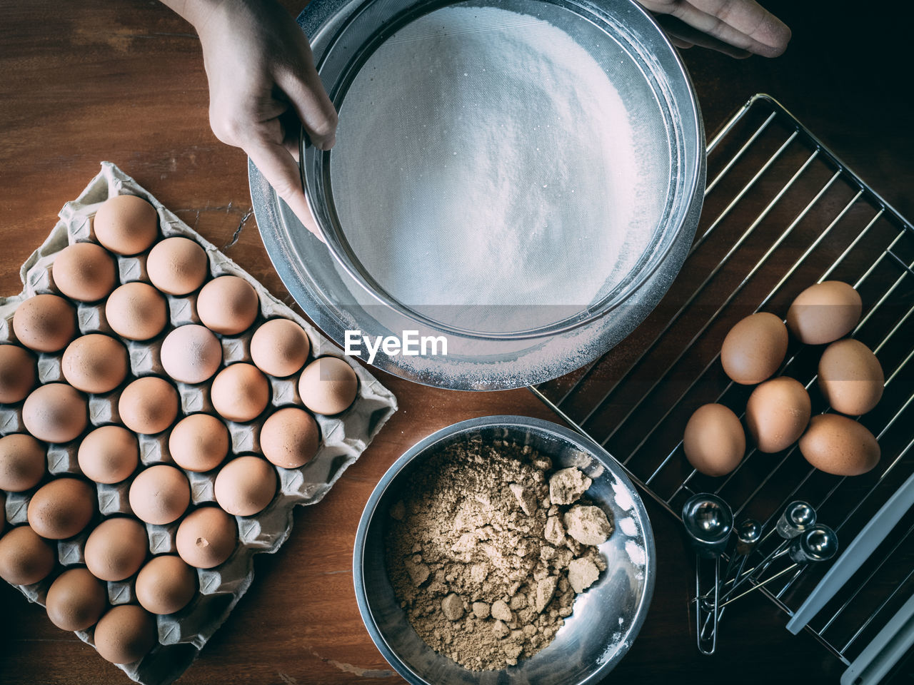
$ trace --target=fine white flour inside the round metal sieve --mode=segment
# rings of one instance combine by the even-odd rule
[[[398,300],[448,305],[435,318],[477,331],[507,330],[499,305],[546,305],[525,314],[543,325],[605,294],[650,240],[631,229],[632,138],[611,80],[564,31],[445,7],[388,38],[348,90],[335,206]]]

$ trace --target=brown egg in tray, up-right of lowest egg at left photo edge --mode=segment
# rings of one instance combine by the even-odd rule
[[[28,525],[48,540],[71,538],[89,525],[96,501],[95,488],[85,480],[50,480],[28,502]]]

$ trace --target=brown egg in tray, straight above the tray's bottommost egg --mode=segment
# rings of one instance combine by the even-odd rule
[[[140,570],[149,539],[136,519],[117,517],[99,523],[86,540],[86,566],[101,580],[123,580]]]

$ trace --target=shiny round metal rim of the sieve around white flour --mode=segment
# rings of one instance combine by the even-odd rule
[[[626,30],[625,26],[620,25],[613,16],[602,12],[597,5],[592,5],[586,2],[586,0],[538,1],[559,5],[569,9],[577,15],[580,20],[590,21],[591,24],[600,28],[600,30],[607,35],[607,39],[612,39],[611,35],[614,35],[617,39],[621,39],[622,43],[624,43],[627,48],[626,51],[629,51],[630,49],[636,50],[636,48],[639,47],[642,48],[642,52],[640,52],[639,55],[645,63],[649,62],[650,58],[653,58],[653,51],[645,47],[643,40],[636,39],[640,37],[637,37],[635,32]],[[366,0],[366,2],[363,2],[350,16],[346,17],[342,26],[340,26],[335,32],[335,36],[330,40],[323,55],[315,64],[318,73],[321,73],[327,59],[333,53],[335,44],[340,42],[342,37],[344,37],[346,29],[351,26],[363,12],[367,11],[369,5],[372,4],[373,0]],[[455,2],[454,0],[420,0],[414,4],[407,5],[405,9],[401,9],[389,21],[385,22],[383,26],[375,29],[367,40],[363,41],[358,46],[358,49],[354,54],[348,58],[341,78],[336,79],[335,83],[330,84],[332,88],[328,90],[328,94],[335,106],[339,108],[339,105],[342,103],[342,100],[345,99],[345,94],[353,79],[356,78],[359,70],[365,65],[367,59],[375,50],[377,50],[377,47],[380,47],[388,37],[392,36],[401,27],[406,26],[409,22],[414,21],[420,16],[429,14],[441,7],[455,4],[459,4],[459,0],[458,2]],[[699,186],[702,184],[702,174],[698,171],[700,165],[694,165],[692,173],[686,177],[685,182],[679,180],[677,166],[687,166],[685,160],[701,157],[705,154],[705,150],[702,142],[703,136],[701,134],[702,123],[699,113],[700,110],[696,100],[695,90],[691,87],[691,79],[688,76],[682,58],[670,43],[669,38],[664,31],[654,21],[654,18],[644,10],[641,5],[632,2],[632,0],[625,0],[624,4],[627,5],[629,9],[643,16],[643,18],[649,22],[650,26],[653,26],[652,30],[654,31],[654,36],[651,38],[659,38],[661,42],[664,43],[668,52],[675,60],[676,77],[681,77],[685,80],[685,83],[688,84],[688,87],[685,89],[687,102],[685,102],[685,105],[682,105],[676,101],[677,98],[675,97],[677,94],[681,95],[681,93],[672,92],[669,76],[663,71],[652,71],[651,73],[657,81],[656,85],[652,84],[651,86],[654,91],[654,97],[657,98],[657,100],[663,100],[668,109],[667,111],[667,109],[661,108],[661,121],[664,121],[664,125],[667,127],[667,134],[670,136],[670,152],[671,156],[674,158],[674,163],[671,163],[669,172],[669,179],[673,186],[673,190],[670,193],[667,206],[664,207],[664,215],[662,216],[661,223],[655,228],[651,244],[644,249],[641,257],[632,266],[632,269],[629,270],[626,276],[617,283],[609,293],[600,298],[600,300],[590,303],[586,307],[576,311],[574,314],[571,314],[562,320],[523,331],[480,332],[432,319],[422,312],[416,311],[414,307],[410,307],[390,295],[390,293],[377,282],[377,279],[371,276],[367,269],[361,265],[360,260],[356,257],[348,239],[345,237],[345,230],[336,216],[335,206],[332,202],[323,202],[323,199],[326,196],[324,186],[326,185],[329,187],[331,184],[330,155],[332,151],[324,152],[314,148],[314,146],[309,144],[310,141],[306,132],[302,130],[299,139],[299,173],[309,208],[314,216],[315,224],[321,232],[321,237],[331,254],[334,256],[336,263],[345,270],[350,278],[358,283],[362,290],[365,290],[368,295],[389,310],[407,316],[413,321],[420,322],[431,330],[448,332],[476,340],[521,341],[571,332],[586,326],[593,321],[599,320],[611,311],[617,310],[622,304],[629,300],[634,293],[640,290],[645,282],[654,276],[656,271],[665,263],[669,253],[675,248],[677,237],[685,230],[686,224],[688,223],[688,213],[692,199],[695,197],[696,193],[701,192]],[[645,56],[643,51],[646,51],[648,55]],[[630,59],[636,66],[638,65],[638,60],[632,57],[632,55],[630,55]],[[645,66],[649,67],[648,64],[645,64]],[[682,89],[677,89],[677,91],[679,90]],[[687,119],[672,116],[683,110],[691,112],[694,116],[688,117]],[[686,130],[689,130],[688,135],[685,135]],[[685,138],[693,139],[694,144],[691,150],[686,149]],[[315,164],[319,166],[320,174],[317,173]],[[330,196],[332,198],[332,194]],[[315,209],[318,211],[315,211]],[[664,225],[665,228],[663,228]],[[522,305],[512,306],[515,306],[517,309],[522,307]]]

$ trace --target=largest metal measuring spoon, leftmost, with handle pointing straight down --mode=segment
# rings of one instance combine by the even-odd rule
[[[717,495],[699,493],[685,501],[682,511],[685,533],[689,536],[696,553],[695,596],[696,596],[696,642],[702,654],[714,654],[717,648],[717,602],[720,598],[720,555],[727,547],[730,531],[733,529],[733,511],[726,501]],[[714,560],[714,586],[707,593],[701,587],[701,560]],[[705,595],[713,593],[714,599],[707,606]],[[704,618],[704,620],[703,620]],[[704,638],[708,619],[711,624],[710,638]]]

